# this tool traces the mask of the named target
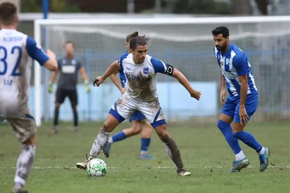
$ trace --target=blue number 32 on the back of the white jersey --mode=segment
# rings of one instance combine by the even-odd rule
[[[11,64],[9,63],[11,61],[7,61],[8,54],[15,55],[14,57],[17,58],[16,63]],[[0,46],[0,76],[5,75],[8,71],[8,68],[13,68],[10,76],[14,76],[14,77],[21,76],[21,73],[16,72],[21,62],[21,57],[22,57],[22,49],[20,46],[14,46],[12,47],[11,50],[7,50],[5,47]],[[4,85],[11,85],[11,84],[12,84],[12,80],[8,80],[8,79],[4,80]]]

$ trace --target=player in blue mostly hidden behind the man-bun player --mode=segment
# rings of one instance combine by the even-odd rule
[[[126,37],[126,47],[127,51],[126,53],[131,52],[129,48],[129,41],[131,40],[131,35],[129,34]],[[118,59],[119,60],[119,59]],[[121,84],[119,83],[117,77],[115,74],[119,72]],[[122,94],[125,92],[125,84],[126,84],[126,75],[124,72],[124,69],[121,67],[119,70],[115,73],[113,73],[110,76],[110,79],[113,81],[113,83],[119,88]],[[128,129],[124,129],[123,131],[111,136],[108,140],[108,143],[103,148],[103,152],[106,157],[109,157],[109,151],[112,143],[115,143],[117,141],[122,141],[128,137],[137,135],[141,133],[141,152],[140,152],[140,159],[152,159],[153,157],[149,154],[147,154],[148,147],[151,142],[151,135],[152,135],[152,126],[150,124],[146,123],[146,117],[140,112],[135,111],[128,119],[129,122],[132,122],[132,127]]]

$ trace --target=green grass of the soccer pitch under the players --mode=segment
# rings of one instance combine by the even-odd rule
[[[139,160],[140,136],[112,145],[110,157],[104,159],[108,171],[103,178],[88,177],[75,163],[84,161],[101,123],[81,123],[79,132],[71,131],[70,123],[61,123],[57,136],[48,137],[51,123],[37,132],[34,168],[25,189],[31,193],[279,193],[290,192],[290,123],[249,123],[247,131],[271,150],[266,171],[259,171],[257,153],[241,143],[250,167],[228,174],[234,159],[224,137],[212,126],[168,125],[182,153],[189,177],[179,177],[166,154],[164,145],[153,133],[149,153],[155,160]],[[130,126],[122,123],[113,132]],[[154,131],[153,131],[154,132]],[[21,145],[7,125],[0,130],[0,192],[10,192]],[[161,163],[157,163],[161,161]]]

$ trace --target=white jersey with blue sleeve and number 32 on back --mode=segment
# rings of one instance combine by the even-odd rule
[[[0,117],[18,118],[30,114],[32,59],[44,65],[49,57],[28,35],[13,29],[0,30]]]

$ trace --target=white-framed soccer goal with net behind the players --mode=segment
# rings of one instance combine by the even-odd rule
[[[202,92],[201,100],[196,101],[174,78],[157,75],[157,93],[166,119],[196,121],[216,118],[222,108],[220,70],[211,35],[211,30],[221,25],[229,28],[230,42],[246,52],[251,64],[259,92],[259,107],[253,118],[290,116],[289,17],[47,19],[35,21],[35,39],[45,49],[53,50],[58,58],[64,56],[64,42],[73,41],[75,57],[92,82],[126,51],[128,34],[138,31],[139,35],[148,36],[151,38],[148,54],[179,69],[193,88]],[[41,118],[53,116],[55,95],[47,93],[49,77],[47,70],[35,65],[31,108],[37,125],[41,124]],[[121,93],[110,79],[98,88],[91,88],[89,95],[82,83],[79,75],[80,121],[106,119]],[[71,120],[71,114],[66,99],[59,117]]]

